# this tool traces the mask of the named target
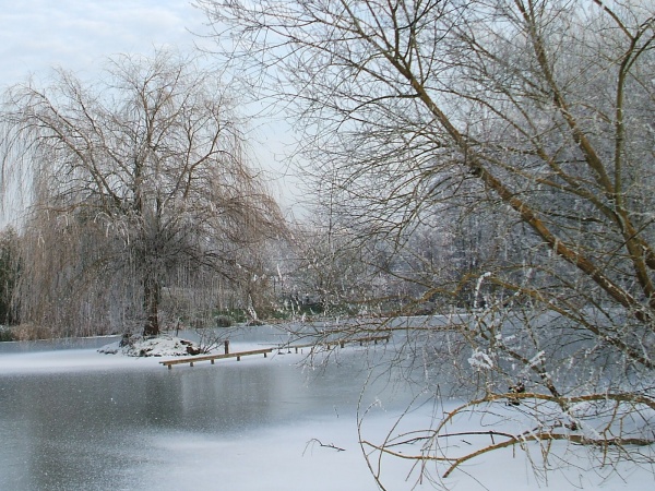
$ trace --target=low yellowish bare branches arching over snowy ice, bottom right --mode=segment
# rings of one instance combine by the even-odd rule
[[[504,404],[510,394],[522,400],[521,409]],[[570,409],[562,411],[562,406]],[[412,412],[408,409],[405,416]],[[628,453],[640,465],[652,462],[655,452],[652,400],[624,393],[559,398],[528,392],[488,393],[433,417],[432,424],[418,431],[403,431],[396,423],[383,443],[362,440],[369,462],[383,455],[415,460],[421,463],[414,467],[417,481],[440,483],[466,464],[503,448],[511,450],[514,458],[523,453],[535,470],[553,470],[552,463],[558,462],[560,471],[568,466],[593,468],[599,459],[609,470]]]

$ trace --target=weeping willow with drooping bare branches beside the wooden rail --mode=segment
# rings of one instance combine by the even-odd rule
[[[23,322],[156,335],[170,298],[207,311],[282,224],[234,100],[193,60],[119,56],[97,83],[59,70],[11,87],[2,117],[7,176],[29,176]]]

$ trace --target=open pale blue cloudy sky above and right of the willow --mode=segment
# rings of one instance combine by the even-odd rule
[[[118,52],[194,49],[205,17],[189,0],[0,0],[0,86],[46,79],[53,67],[93,79]],[[260,165],[277,172],[276,194],[289,204],[293,188],[279,163],[285,135],[258,127],[252,146]]]

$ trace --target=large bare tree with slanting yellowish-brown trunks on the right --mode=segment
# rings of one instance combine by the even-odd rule
[[[361,243],[410,255],[436,216],[453,247],[478,237],[466,241],[483,254],[458,274],[421,280],[426,299],[471,292],[474,311],[417,330],[432,356],[414,357],[471,392],[414,458],[448,476],[488,450],[567,440],[652,460],[653,5],[196,3],[245,81],[306,130],[306,168]],[[521,404],[528,422],[463,456],[443,446],[448,421],[498,402]]]

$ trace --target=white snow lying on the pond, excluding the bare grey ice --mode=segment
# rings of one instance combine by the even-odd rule
[[[234,344],[233,351],[261,348],[252,344]],[[354,349],[354,348],[346,348]],[[84,372],[103,373],[128,371],[157,371],[166,373],[159,357],[127,357],[105,355],[96,349],[67,349],[53,351],[19,352],[0,355],[0,388],[7,376],[40,376],[59,373],[62,376]],[[294,367],[300,355],[248,357],[240,362],[222,360],[229,367],[269,370]],[[202,368],[206,376],[216,368]],[[237,366],[236,363],[242,363]],[[172,369],[177,376],[186,376],[198,370],[179,366]],[[228,367],[226,364],[225,367]],[[180,371],[182,371],[180,373]],[[311,383],[311,381],[310,381]],[[0,394],[1,397],[1,394]],[[2,403],[0,398],[0,403]],[[254,403],[253,403],[254,404]],[[383,403],[364,421],[362,436],[366,440],[381,442],[396,421],[397,408],[385,408]],[[0,404],[2,408],[2,404]],[[130,490],[374,490],[378,489],[367,466],[358,443],[357,421],[352,411],[323,412],[318,416],[303,415],[291,421],[275,422],[257,428],[241,428],[225,434],[207,432],[199,434],[184,428],[162,428],[145,432],[142,445],[124,448],[133,452],[129,458],[133,466],[123,466],[117,471],[116,479],[106,488]],[[417,411],[403,420],[407,428],[420,428],[426,414]],[[461,422],[460,424],[466,424]],[[454,427],[452,432],[467,427]],[[2,432],[11,429],[0,429]],[[88,439],[94,435],[90,434]],[[465,443],[462,443],[465,445]],[[559,445],[559,446],[558,446]],[[529,456],[520,450],[505,448],[484,455],[463,465],[441,484],[452,490],[653,490],[655,489],[655,469],[648,466],[621,465],[616,472],[611,468],[599,466],[599,462],[590,459],[586,451],[557,443],[550,454],[552,471],[545,476],[535,476],[529,458],[538,458],[535,452]],[[146,450],[146,451],[144,451]],[[414,450],[419,451],[419,447]],[[144,452],[146,452],[144,454]],[[1,454],[0,458],[3,455]],[[528,458],[529,457],[529,458]],[[4,457],[8,458],[8,457]],[[7,464],[7,463],[5,463]],[[98,463],[96,463],[98,464]],[[98,464],[100,465],[100,464]],[[373,471],[381,468],[381,482],[389,490],[431,489],[434,483],[418,481],[418,469],[412,460],[371,455]],[[429,464],[428,464],[429,465]],[[20,467],[20,466],[19,466]],[[20,472],[12,464],[7,467],[11,472]],[[2,463],[0,462],[0,469]],[[17,478],[16,478],[17,479]],[[2,488],[0,477],[0,488]],[[16,480],[17,482],[17,480]],[[20,489],[20,488],[19,488]],[[33,488],[24,488],[33,489]],[[55,489],[55,488],[52,488]],[[59,489],[59,488],[57,488]]]

